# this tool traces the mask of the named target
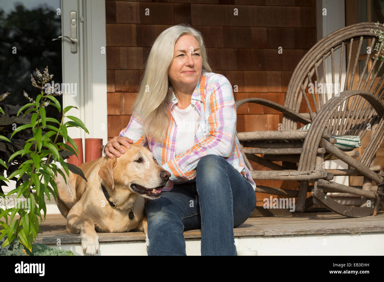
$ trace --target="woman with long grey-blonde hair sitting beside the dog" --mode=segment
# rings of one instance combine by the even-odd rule
[[[236,132],[232,86],[212,73],[202,35],[189,25],[154,41],[131,120],[104,153],[147,146],[171,173],[148,201],[148,255],[186,255],[184,230],[201,228],[202,255],[236,256],[233,228],[256,206],[255,182]]]

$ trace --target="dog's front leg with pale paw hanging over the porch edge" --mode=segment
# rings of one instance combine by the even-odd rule
[[[99,253],[99,235],[94,224],[86,218],[76,214],[67,216],[67,232],[80,233],[81,247],[84,253],[94,255]]]

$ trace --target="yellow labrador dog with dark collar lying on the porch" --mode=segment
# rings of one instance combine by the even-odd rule
[[[98,254],[97,232],[144,231],[144,198],[161,196],[170,173],[156,162],[146,147],[130,144],[120,157],[101,157],[79,165],[87,178],[70,172],[65,183],[59,173],[56,204],[67,219],[67,232],[80,233],[84,253]]]

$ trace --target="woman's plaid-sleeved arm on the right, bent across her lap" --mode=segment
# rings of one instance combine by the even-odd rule
[[[216,79],[216,78],[215,78]],[[236,107],[232,86],[227,78],[220,75],[213,85],[205,103],[209,103],[209,136],[202,142],[195,144],[185,153],[175,156],[162,165],[171,173],[170,180],[190,180],[196,175],[196,167],[200,158],[205,155],[219,155],[228,158],[233,149],[236,133]],[[204,119],[205,117],[200,117]]]

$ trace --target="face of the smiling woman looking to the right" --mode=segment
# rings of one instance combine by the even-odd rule
[[[195,87],[202,71],[202,57],[199,42],[192,35],[183,35],[177,40],[174,58],[168,76],[172,86],[177,88]]]

